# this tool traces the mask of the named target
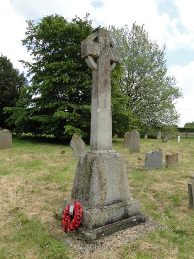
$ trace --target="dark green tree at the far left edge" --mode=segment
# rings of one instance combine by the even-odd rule
[[[26,86],[27,80],[23,73],[13,67],[11,61],[1,54],[0,56],[0,127],[7,128],[5,120],[9,117],[3,113],[6,106],[14,107],[19,99],[21,89]],[[10,128],[11,129],[11,128]]]

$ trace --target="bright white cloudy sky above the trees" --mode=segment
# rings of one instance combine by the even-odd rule
[[[38,22],[43,16],[63,15],[70,21],[90,13],[93,26],[114,25],[129,29],[136,22],[145,24],[149,36],[166,45],[169,74],[177,79],[183,99],[176,108],[180,124],[194,121],[194,0],[0,0],[0,52],[16,69],[25,71],[18,60],[31,60],[21,40],[25,20]]]

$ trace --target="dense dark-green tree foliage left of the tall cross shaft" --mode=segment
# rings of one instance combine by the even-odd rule
[[[69,138],[89,135],[91,70],[80,56],[80,42],[92,32],[91,21],[76,17],[68,22],[59,15],[27,21],[23,45],[33,62],[25,62],[31,86],[15,108],[7,108],[16,131]]]

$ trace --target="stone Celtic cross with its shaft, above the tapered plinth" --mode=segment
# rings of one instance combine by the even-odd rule
[[[110,32],[98,27],[81,41],[81,57],[92,69],[90,148],[109,150],[112,149],[111,70],[120,62],[120,53]]]

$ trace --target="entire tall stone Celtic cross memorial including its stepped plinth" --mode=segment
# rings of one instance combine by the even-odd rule
[[[120,62],[120,53],[110,32],[95,29],[81,42],[81,57],[92,69],[90,150],[79,156],[71,198],[63,200],[63,210],[72,201],[80,202],[85,228],[78,231],[93,240],[147,216],[140,212],[140,202],[131,199],[124,156],[112,149],[110,72]]]

